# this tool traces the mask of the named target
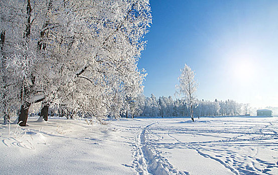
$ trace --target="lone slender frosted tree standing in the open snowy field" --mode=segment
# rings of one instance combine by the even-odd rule
[[[182,74],[178,77],[180,84],[176,85],[177,93],[184,95],[187,107],[190,109],[191,119],[194,121],[193,107],[197,103],[195,92],[198,84],[194,79],[194,71],[187,64],[181,71]]]

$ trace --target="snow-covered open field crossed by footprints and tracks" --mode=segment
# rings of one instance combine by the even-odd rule
[[[0,125],[1,174],[278,174],[278,117],[36,120]]]

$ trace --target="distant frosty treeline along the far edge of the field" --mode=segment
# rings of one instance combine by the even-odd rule
[[[135,115],[140,116],[184,116],[190,115],[190,110],[184,99],[173,100],[172,96],[160,96],[154,94],[151,97],[141,96],[131,105]],[[132,107],[131,107],[132,108]],[[218,116],[218,115],[239,115],[249,113],[250,105],[238,103],[232,99],[225,101],[198,100],[194,107],[194,116]],[[132,111],[131,111],[132,113]]]

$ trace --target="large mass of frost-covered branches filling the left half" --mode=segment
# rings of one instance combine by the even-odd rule
[[[1,0],[1,112],[42,101],[98,120],[119,117],[143,91],[137,68],[152,22],[149,0]],[[2,40],[2,35],[4,38]],[[46,116],[45,116],[46,113]]]

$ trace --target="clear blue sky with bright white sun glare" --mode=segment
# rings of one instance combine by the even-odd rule
[[[150,0],[144,94],[174,95],[187,63],[199,99],[278,106],[278,0]]]

